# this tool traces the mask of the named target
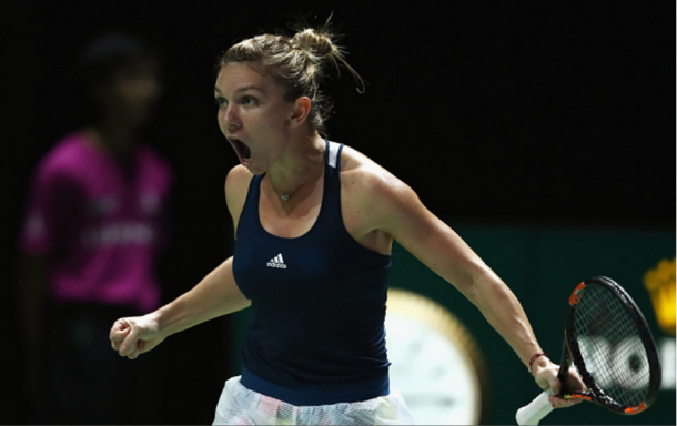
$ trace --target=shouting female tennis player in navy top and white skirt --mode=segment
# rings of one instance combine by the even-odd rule
[[[474,303],[538,386],[557,393],[558,367],[501,278],[410,186],[321,136],[325,65],[361,81],[344,54],[325,26],[257,36],[220,58],[218,121],[240,159],[225,180],[234,255],[172,303],[118,320],[113,349],[134,359],[251,306],[242,375],[225,383],[214,424],[411,424],[388,383],[384,338],[394,239]]]

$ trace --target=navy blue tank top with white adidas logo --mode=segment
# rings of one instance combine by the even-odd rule
[[[241,383],[296,406],[390,393],[384,321],[391,256],[362,246],[344,227],[342,149],[326,141],[322,206],[307,233],[284,239],[263,229],[263,175],[252,179],[238,224],[233,274],[252,301]]]

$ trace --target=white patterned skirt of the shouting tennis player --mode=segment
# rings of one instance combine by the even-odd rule
[[[247,389],[240,377],[225,382],[216,405],[214,425],[413,425],[402,395],[393,387],[387,396],[357,403],[291,405]]]

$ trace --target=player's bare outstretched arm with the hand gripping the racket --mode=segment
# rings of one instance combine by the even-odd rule
[[[532,356],[543,353],[524,308],[509,287],[444,222],[431,213],[416,193],[397,179],[381,179],[374,186],[371,214],[377,229],[395,239],[437,275],[454,285],[484,315],[488,323],[528,367]],[[559,393],[558,366],[538,357],[532,371],[544,389]],[[583,384],[573,377],[575,387]],[[555,407],[576,402],[552,398]]]

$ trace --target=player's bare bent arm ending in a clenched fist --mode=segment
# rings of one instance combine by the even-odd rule
[[[246,169],[235,166],[225,180],[225,201],[235,230],[251,176]],[[250,305],[251,301],[235,284],[231,256],[168,305],[148,315],[118,320],[110,332],[111,346],[120,356],[134,359],[174,333]]]

